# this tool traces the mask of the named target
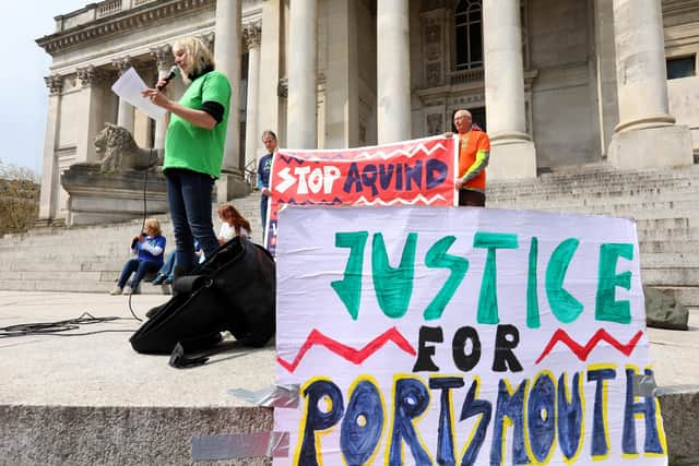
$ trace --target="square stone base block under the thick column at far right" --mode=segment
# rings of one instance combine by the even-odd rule
[[[620,169],[678,167],[694,164],[689,128],[670,126],[615,133],[609,164]]]

